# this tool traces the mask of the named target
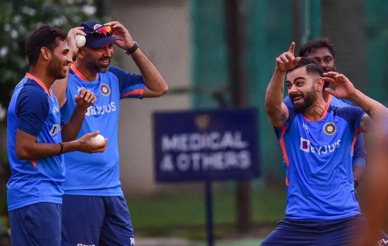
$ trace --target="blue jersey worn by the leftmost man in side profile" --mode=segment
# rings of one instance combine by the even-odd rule
[[[35,203],[62,204],[65,177],[63,155],[36,160],[16,157],[16,131],[37,137],[36,142],[62,142],[57,98],[31,74],[17,84],[7,113],[7,153],[11,177],[7,183],[8,210]]]

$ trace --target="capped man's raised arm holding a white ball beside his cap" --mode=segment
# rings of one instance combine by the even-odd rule
[[[74,40],[75,36],[76,35],[86,36],[86,34],[82,30],[83,30],[83,27],[76,27],[76,28],[70,29],[70,31],[68,32],[68,37],[66,38],[66,42],[68,43],[68,47],[70,50],[69,54],[72,58],[78,52],[78,48],[76,47],[75,40]],[[54,84],[50,87],[51,90],[54,92],[55,97],[57,97],[60,108],[65,103],[65,95],[66,95],[66,89],[68,87],[69,72],[70,72],[70,65],[66,73],[66,78],[63,78],[61,80],[55,80]]]

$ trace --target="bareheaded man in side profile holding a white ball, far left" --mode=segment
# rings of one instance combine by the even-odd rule
[[[73,29],[74,36],[81,33]],[[7,115],[7,152],[11,177],[7,203],[12,245],[61,245],[61,204],[64,194],[64,156],[70,151],[103,152],[107,141],[97,144],[88,133],[74,140],[85,111],[96,98],[82,90],[65,124],[50,90],[66,77],[71,57],[67,33],[52,26],[32,31],[26,41],[30,71],[16,86]],[[73,41],[74,42],[74,41]]]

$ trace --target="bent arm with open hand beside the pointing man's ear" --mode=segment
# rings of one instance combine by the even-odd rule
[[[360,128],[364,132],[372,132],[375,128],[376,121],[380,122],[386,119],[388,109],[383,104],[357,90],[345,75],[329,72],[324,73],[324,76],[323,79],[335,87],[335,90],[331,88],[325,89],[329,94],[344,99],[350,98],[364,109],[365,114],[360,120]]]

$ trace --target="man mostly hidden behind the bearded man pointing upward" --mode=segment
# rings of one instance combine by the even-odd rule
[[[334,56],[333,44],[327,38],[320,38],[310,40],[305,43],[299,50],[299,57],[312,57],[314,58],[324,72],[336,71],[336,60]],[[330,83],[325,82],[324,88],[329,88]],[[353,106],[351,102],[345,99],[334,97],[333,95],[323,90],[323,99],[330,105],[336,107]],[[292,102],[287,95],[284,100],[284,104],[291,106]],[[364,147],[364,138],[362,133],[357,136],[354,151],[353,151],[353,180],[354,188],[357,189],[359,183],[362,180],[366,168],[366,152]]]

